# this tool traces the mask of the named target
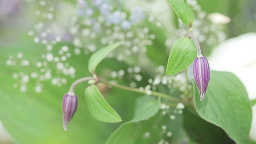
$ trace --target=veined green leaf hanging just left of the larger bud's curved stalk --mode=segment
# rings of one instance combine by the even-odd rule
[[[196,46],[192,38],[184,37],[175,42],[168,58],[166,75],[176,74],[187,68],[196,58]]]

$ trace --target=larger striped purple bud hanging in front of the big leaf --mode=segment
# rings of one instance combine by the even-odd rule
[[[204,100],[204,96],[210,80],[210,66],[207,59],[202,56],[194,60],[193,66],[194,79],[200,93],[200,101]]]

